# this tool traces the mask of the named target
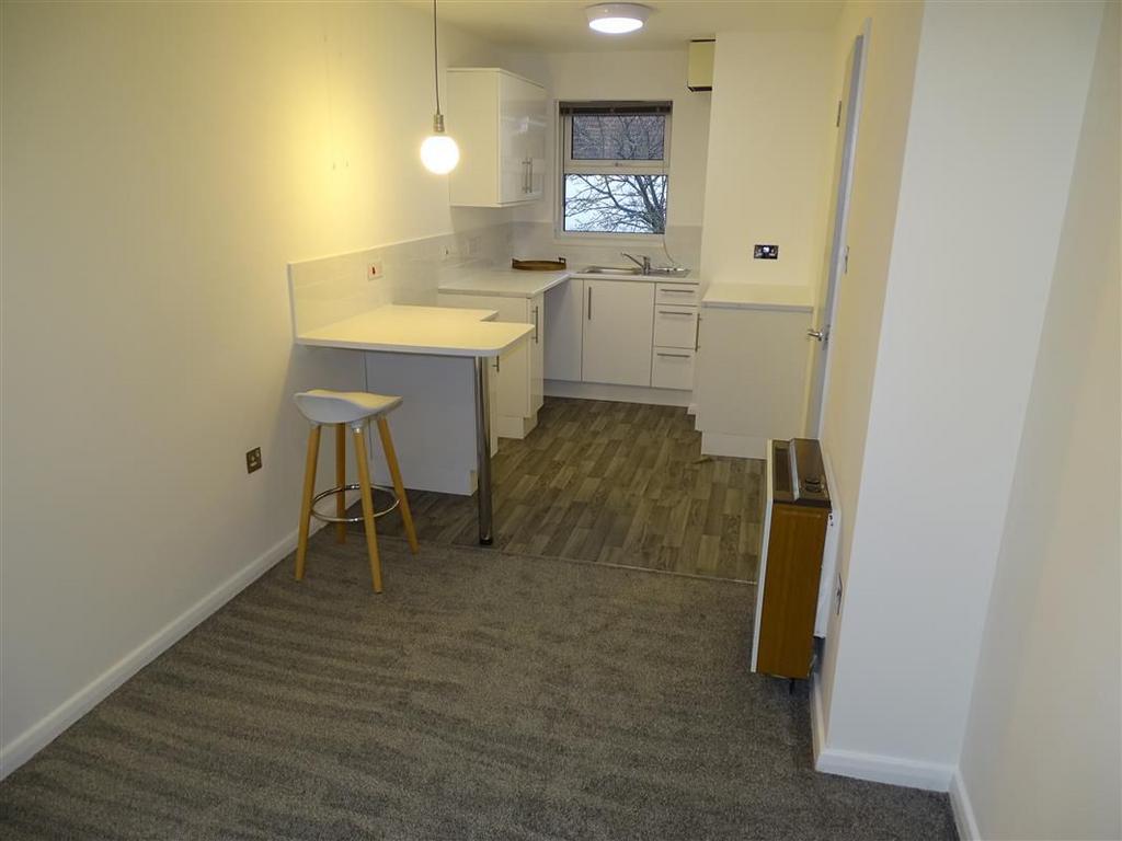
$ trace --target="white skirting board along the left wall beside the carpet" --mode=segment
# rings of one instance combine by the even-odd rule
[[[358,491],[347,495],[348,507],[359,500]],[[328,525],[312,520],[313,534]],[[71,695],[35,724],[0,748],[0,779],[62,736],[71,724],[104,701],[110,693],[185,637],[200,622],[217,612],[285,555],[296,548],[297,532],[293,529],[261,555],[246,564],[180,616],[165,625],[121,659]]]

